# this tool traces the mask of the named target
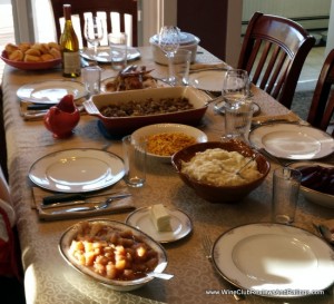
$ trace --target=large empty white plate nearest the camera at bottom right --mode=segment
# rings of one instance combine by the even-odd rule
[[[261,296],[301,297],[334,282],[333,249],[297,227],[259,223],[233,228],[212,252],[219,274]]]

